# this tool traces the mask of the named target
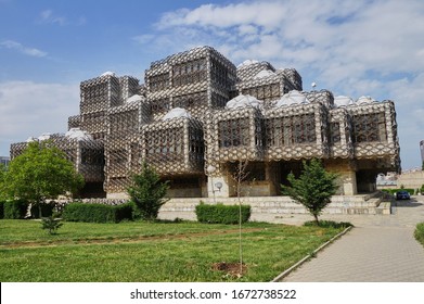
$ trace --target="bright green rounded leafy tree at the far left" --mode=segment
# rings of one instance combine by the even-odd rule
[[[83,177],[65,153],[50,141],[30,142],[24,152],[10,162],[3,188],[10,199],[26,200],[38,206],[59,195],[74,194],[83,186]]]

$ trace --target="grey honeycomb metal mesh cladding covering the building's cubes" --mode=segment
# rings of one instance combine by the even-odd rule
[[[93,139],[51,136],[86,179],[104,181],[108,193],[124,192],[143,161],[176,177],[221,176],[229,162],[244,160],[386,160],[400,168],[391,101],[335,107],[332,92],[321,90],[303,92],[307,104],[277,107],[284,93],[301,91],[296,69],[275,69],[268,62],[235,67],[210,47],[152,62],[144,83],[112,73],[81,81],[80,113],[68,118],[68,129],[80,128]],[[239,93],[264,104],[226,109]],[[140,98],[127,102],[134,96]],[[163,121],[174,107],[190,117]],[[13,143],[11,157],[26,144]],[[216,170],[208,173],[209,166]]]

